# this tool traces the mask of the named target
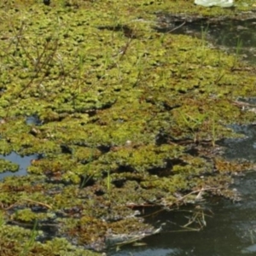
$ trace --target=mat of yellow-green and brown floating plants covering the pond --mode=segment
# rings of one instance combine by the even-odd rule
[[[153,11],[180,3],[2,6],[0,152],[42,157],[0,183],[1,255],[93,255],[107,236],[158,230],[135,206],[236,200],[232,174],[253,166],[223,160],[217,142],[255,119],[237,103],[255,96],[255,74],[207,42],[155,31]]]

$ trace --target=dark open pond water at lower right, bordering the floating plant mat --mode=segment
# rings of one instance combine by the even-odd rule
[[[256,126],[233,128],[247,137],[224,140],[221,144],[227,147],[226,157],[255,161]],[[241,201],[213,198],[210,203],[197,206],[205,211],[207,226],[203,230],[179,229],[179,225],[188,223],[195,206],[161,212],[151,217],[151,221],[165,223],[162,233],[144,239],[146,245],[142,247],[121,247],[119,252],[112,251],[109,255],[256,255],[256,172],[248,171],[244,177],[236,177],[232,186],[240,192]]]

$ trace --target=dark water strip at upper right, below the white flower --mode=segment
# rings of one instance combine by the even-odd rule
[[[255,18],[244,17],[244,20],[191,19],[160,15],[159,20],[165,26],[162,28],[159,26],[157,30],[203,38],[211,42],[214,47],[240,55],[243,60],[250,63],[256,62]]]

